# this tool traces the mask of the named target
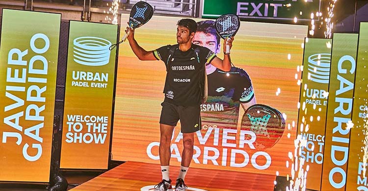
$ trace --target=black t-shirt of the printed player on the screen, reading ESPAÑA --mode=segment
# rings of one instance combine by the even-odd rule
[[[254,97],[251,79],[243,69],[231,67],[229,72],[216,69],[208,77],[208,99],[201,105],[202,125],[237,129],[240,103]]]

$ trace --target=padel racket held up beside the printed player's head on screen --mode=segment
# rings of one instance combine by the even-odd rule
[[[226,14],[221,15],[215,21],[217,34],[224,40],[231,38],[237,34],[237,30],[240,28],[240,19],[237,15]],[[226,45],[226,54],[230,53],[230,46]]]

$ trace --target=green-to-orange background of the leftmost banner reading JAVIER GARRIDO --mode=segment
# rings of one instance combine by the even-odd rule
[[[60,14],[3,9],[0,47],[0,109],[3,110],[5,106],[14,103],[13,100],[5,97],[5,88],[7,85],[24,86],[26,87],[26,90],[31,85],[38,85],[41,88],[46,85],[47,90],[42,93],[42,96],[46,97],[45,103],[26,101],[26,92],[10,91],[11,94],[19,96],[25,100],[25,105],[6,113],[0,112],[0,135],[2,137],[3,132],[19,132],[18,130],[4,124],[4,117],[21,111],[25,112],[26,106],[30,104],[36,104],[38,106],[45,104],[45,110],[41,112],[41,115],[45,116],[44,127],[40,129],[40,137],[43,138],[43,143],[41,143],[42,156],[35,162],[30,162],[24,159],[22,154],[24,144],[28,143],[30,145],[28,148],[28,154],[33,156],[36,155],[36,149],[31,148],[32,143],[39,142],[24,135],[23,132],[26,128],[36,125],[40,121],[26,121],[25,116],[21,117],[19,123],[23,126],[23,132],[19,133],[23,138],[22,143],[17,145],[15,143],[16,138],[8,138],[7,143],[0,142],[1,156],[4,156],[0,157],[0,180],[2,181],[49,182],[60,18]],[[28,49],[28,54],[23,57],[23,60],[26,60],[28,64],[31,57],[37,55],[32,51],[29,45],[31,37],[36,33],[43,33],[47,35],[50,40],[49,50],[42,54],[49,61],[48,74],[46,76],[27,73],[27,77],[47,78],[47,84],[6,82],[6,71],[8,67],[13,69],[11,76],[14,76],[14,69],[20,70],[20,76],[23,74],[21,69],[26,68],[28,72],[28,66],[7,65],[9,51],[12,48],[19,48],[21,51]],[[35,46],[42,48],[44,46],[44,41],[40,39],[36,40]],[[35,62],[35,66],[38,65],[38,62],[40,61]],[[31,133],[35,132],[33,131]],[[14,173],[15,169],[17,169],[17,173]],[[37,173],[34,173],[35,171],[37,171]]]

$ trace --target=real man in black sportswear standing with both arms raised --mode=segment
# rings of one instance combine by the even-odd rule
[[[172,191],[169,178],[169,163],[171,157],[171,137],[177,122],[181,121],[184,149],[182,166],[176,180],[175,191],[185,191],[184,177],[193,157],[194,134],[201,129],[200,105],[205,98],[203,95],[203,77],[205,64],[211,63],[222,71],[231,68],[229,54],[224,59],[216,57],[208,48],[192,44],[197,30],[197,23],[191,19],[182,19],[177,24],[177,43],[164,46],[153,51],[146,51],[134,39],[134,29],[127,27],[127,39],[134,54],[140,60],[162,60],[166,65],[166,80],[164,87],[164,101],[160,117],[160,145],[159,156],[162,181],[155,187],[155,191]],[[224,41],[230,49],[234,38]]]

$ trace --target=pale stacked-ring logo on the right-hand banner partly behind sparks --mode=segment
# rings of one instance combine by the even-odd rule
[[[309,56],[308,62],[308,79],[317,83],[328,84],[330,81],[331,54],[313,54]]]

